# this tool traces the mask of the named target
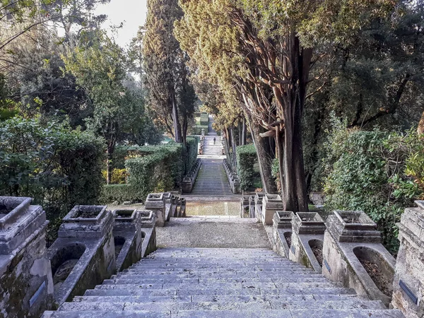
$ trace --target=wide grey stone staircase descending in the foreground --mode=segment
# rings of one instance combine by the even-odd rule
[[[163,248],[47,317],[404,317],[269,249]]]

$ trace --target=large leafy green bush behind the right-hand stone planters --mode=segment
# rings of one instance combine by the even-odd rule
[[[408,163],[423,156],[422,142],[414,131],[336,129],[326,147],[326,208],[365,211],[382,231],[387,249],[396,252],[396,223],[404,208],[423,194],[408,175]],[[423,165],[414,168],[416,175],[424,172]]]

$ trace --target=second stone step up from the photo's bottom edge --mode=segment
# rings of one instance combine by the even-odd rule
[[[370,300],[341,300],[341,301],[292,301],[266,300],[264,302],[65,302],[60,310],[148,310],[149,312],[175,313],[181,310],[298,310],[298,309],[331,309],[331,310],[381,310],[385,309],[382,302]]]

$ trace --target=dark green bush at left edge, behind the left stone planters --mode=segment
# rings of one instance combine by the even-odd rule
[[[65,124],[13,118],[0,122],[0,195],[30,196],[45,208],[47,240],[76,204],[97,204],[105,143]]]

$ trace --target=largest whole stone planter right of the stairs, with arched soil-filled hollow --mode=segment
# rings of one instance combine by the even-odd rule
[[[322,251],[324,276],[355,289],[358,295],[389,305],[391,295],[379,290],[362,264],[377,265],[390,282],[385,288],[391,290],[396,261],[381,244],[377,225],[363,211],[334,211],[326,220],[326,228]]]

